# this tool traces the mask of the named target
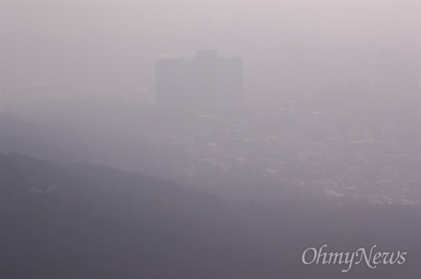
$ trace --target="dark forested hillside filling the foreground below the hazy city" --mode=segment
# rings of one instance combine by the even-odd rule
[[[417,207],[236,205],[102,166],[1,156],[1,278],[419,274]],[[300,208],[300,209],[299,209]],[[373,222],[375,220],[375,222]],[[406,263],[304,266],[308,247],[405,250]]]

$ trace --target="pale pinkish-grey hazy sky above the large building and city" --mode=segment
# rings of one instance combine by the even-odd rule
[[[243,57],[249,80],[290,57],[371,62],[396,48],[419,64],[420,1],[2,1],[1,35],[6,79],[19,64],[47,76],[51,61],[119,55],[112,67],[150,87],[158,55],[215,48]]]

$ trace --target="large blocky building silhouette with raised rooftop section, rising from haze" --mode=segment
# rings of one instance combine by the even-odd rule
[[[158,104],[229,104],[243,99],[243,59],[196,50],[196,57],[155,61]]]

